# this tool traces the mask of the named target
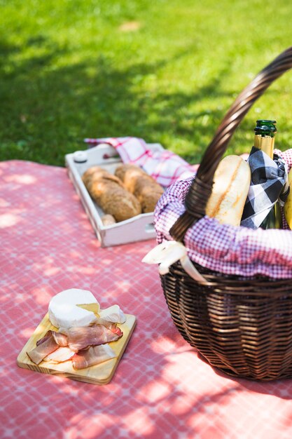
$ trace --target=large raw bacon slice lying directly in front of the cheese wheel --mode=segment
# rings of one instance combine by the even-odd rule
[[[114,342],[123,335],[119,327],[111,327],[110,330],[103,325],[71,327],[69,330],[60,329],[61,331],[67,335],[68,346],[75,352],[87,346]]]

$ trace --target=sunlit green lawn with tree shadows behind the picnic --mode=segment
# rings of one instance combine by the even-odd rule
[[[286,0],[0,0],[0,160],[64,166],[84,137],[133,135],[200,161],[253,76],[291,46]],[[132,23],[132,25],[131,25]],[[292,74],[253,105],[291,147]]]

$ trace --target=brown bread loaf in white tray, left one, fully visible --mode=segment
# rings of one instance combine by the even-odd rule
[[[86,170],[82,180],[90,196],[104,213],[112,215],[116,222],[141,213],[141,204],[137,198],[125,189],[118,177],[99,166]]]

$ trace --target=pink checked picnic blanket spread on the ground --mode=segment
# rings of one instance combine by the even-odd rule
[[[0,162],[0,238],[1,439],[291,439],[292,381],[207,365],[174,327],[157,266],[141,262],[155,241],[101,248],[64,168]],[[137,317],[105,386],[16,365],[67,288]]]

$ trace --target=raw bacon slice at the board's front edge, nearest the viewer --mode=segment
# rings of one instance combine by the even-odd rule
[[[85,367],[94,366],[115,357],[116,353],[108,344],[90,346],[87,351],[78,352],[74,355],[72,365],[74,369],[84,369]]]

